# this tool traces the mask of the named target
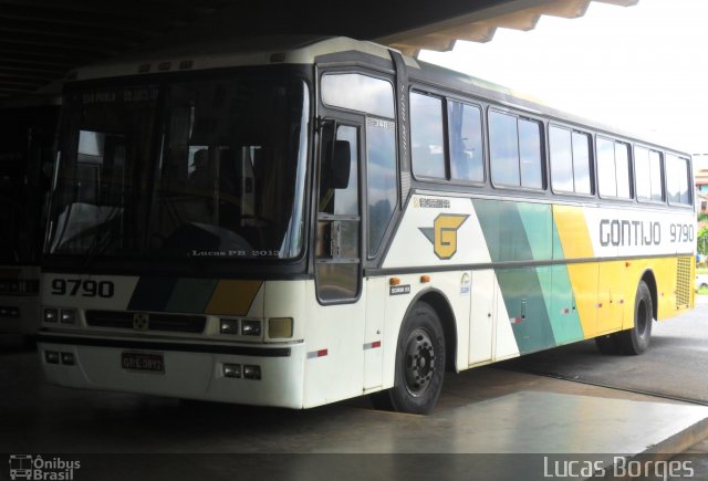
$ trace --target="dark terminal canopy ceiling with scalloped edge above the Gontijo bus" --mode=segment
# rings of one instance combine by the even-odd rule
[[[58,91],[79,66],[191,40],[345,35],[417,54],[498,28],[531,30],[543,14],[575,18],[591,1],[638,0],[0,0],[0,100]]]

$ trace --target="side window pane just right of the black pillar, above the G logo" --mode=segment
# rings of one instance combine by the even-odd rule
[[[410,93],[410,142],[413,172],[445,178],[442,100]]]

